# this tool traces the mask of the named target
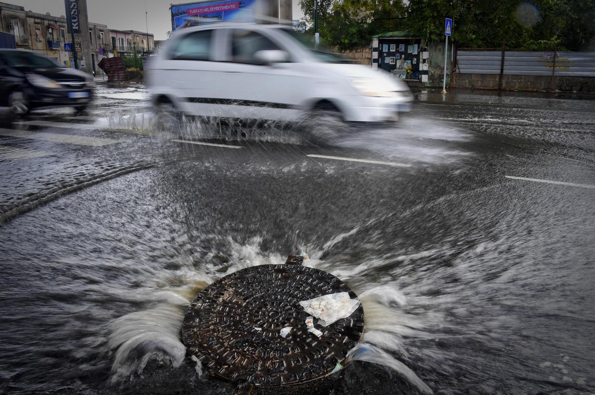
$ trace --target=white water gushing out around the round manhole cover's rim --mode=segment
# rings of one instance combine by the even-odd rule
[[[276,253],[264,254],[260,248],[262,238],[253,238],[247,244],[237,243],[231,238],[227,240],[229,251],[228,267],[224,266],[225,273],[222,273],[221,267],[215,266],[204,267],[201,272],[197,272],[195,268],[185,268],[175,280],[171,280],[177,282],[177,286],[143,292],[144,296],[154,300],[151,308],[124,315],[112,323],[109,336],[109,347],[115,350],[112,380],[140,374],[151,359],[167,362],[174,368],[180,366],[186,356],[186,348],[180,342],[181,323],[187,306],[196,294],[209,282],[234,271],[263,264],[283,264],[286,259],[286,256]],[[318,253],[315,252],[314,255]],[[335,275],[342,270],[341,264],[312,258],[305,261],[305,266],[324,268]],[[361,277],[366,267],[364,263],[356,265],[351,268],[347,277]],[[341,276],[339,278],[346,280]],[[182,285],[179,285],[180,281],[183,282]],[[167,283],[167,279],[158,279],[158,282]],[[411,369],[393,356],[402,355],[406,358],[403,339],[425,337],[424,327],[431,318],[420,318],[404,312],[402,306],[407,305],[408,298],[394,283],[350,287],[359,295],[364,306],[365,343],[350,350],[346,362],[366,361],[385,366],[402,375],[421,391],[431,393],[430,388]],[[202,377],[201,362],[196,357],[192,361],[196,364],[198,376]]]

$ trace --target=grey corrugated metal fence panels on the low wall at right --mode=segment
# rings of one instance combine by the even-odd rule
[[[456,72],[500,74],[502,51],[458,50]],[[503,74],[595,77],[595,52],[529,52],[507,50]]]

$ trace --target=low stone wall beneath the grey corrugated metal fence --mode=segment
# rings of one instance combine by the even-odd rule
[[[498,89],[498,74],[455,74],[458,88]],[[502,89],[559,90],[595,93],[595,77],[552,77],[546,75],[503,75]]]

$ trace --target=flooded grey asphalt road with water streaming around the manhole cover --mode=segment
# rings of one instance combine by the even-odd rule
[[[300,251],[361,296],[374,347],[255,393],[595,393],[592,101],[421,91],[398,128],[316,147],[157,132],[142,86],[98,93],[0,115],[0,393],[232,394],[186,356],[184,311]]]

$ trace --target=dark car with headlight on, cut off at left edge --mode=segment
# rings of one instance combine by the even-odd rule
[[[0,50],[0,106],[16,115],[32,109],[74,107],[82,111],[91,102],[93,78],[77,69],[31,50]]]

